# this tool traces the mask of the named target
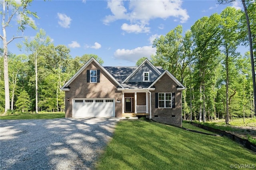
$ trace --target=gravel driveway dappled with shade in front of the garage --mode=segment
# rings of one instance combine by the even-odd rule
[[[118,118],[0,121],[0,169],[93,169]]]

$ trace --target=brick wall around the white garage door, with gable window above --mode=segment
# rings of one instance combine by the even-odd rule
[[[70,83],[70,91],[66,91],[66,117],[72,117],[72,99],[74,98],[117,98],[122,100],[122,92],[117,91],[117,83],[115,83],[102,69],[100,69],[100,83],[87,83],[86,70],[100,67],[92,61],[72,83]],[[69,98],[69,101],[67,100]],[[122,117],[122,101],[115,103],[116,117]]]

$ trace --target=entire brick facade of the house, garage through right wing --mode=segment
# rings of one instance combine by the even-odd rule
[[[99,83],[87,83],[87,70],[100,70]],[[177,83],[169,76],[167,71],[154,84],[150,93],[146,89],[137,89],[137,105],[146,105],[146,93],[148,93],[148,112],[150,114],[150,104],[152,108],[151,119],[160,123],[169,125],[182,126],[182,91],[177,91]],[[180,83],[179,83],[180,84]],[[180,84],[181,85],[181,84]],[[95,61],[92,61],[88,66],[77,75],[76,78],[68,84],[69,91],[65,91],[66,95],[66,117],[72,117],[72,101],[73,99],[96,99],[96,98],[111,98],[115,101],[115,117],[122,117],[122,91],[118,91],[118,83],[105,72]],[[151,87],[151,86],[150,86]],[[184,87],[184,86],[183,86]],[[183,88],[184,89],[184,88]],[[132,112],[135,111],[135,92],[130,89],[126,92],[124,90],[124,97],[132,97]],[[145,92],[143,92],[145,91]],[[156,108],[156,93],[175,93],[175,107],[173,108]],[[119,98],[120,102],[117,103]]]

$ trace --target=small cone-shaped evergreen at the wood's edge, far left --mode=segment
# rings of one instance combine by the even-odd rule
[[[15,105],[19,111],[27,112],[30,110],[31,101],[28,93],[25,90],[20,92],[20,95],[18,96],[18,100],[16,101]]]

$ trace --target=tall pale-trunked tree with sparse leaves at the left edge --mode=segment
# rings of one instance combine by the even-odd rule
[[[0,34],[0,38],[3,41],[4,47],[4,92],[5,92],[5,109],[4,112],[10,109],[10,92],[9,92],[9,77],[8,77],[8,47],[7,45],[12,42],[16,38],[22,38],[20,36],[12,37],[9,41],[7,41],[6,28],[10,26],[10,22],[14,15],[18,15],[20,20],[18,20],[18,30],[25,29],[25,26],[28,25],[33,29],[36,29],[36,25],[30,18],[29,15],[38,18],[35,12],[31,12],[28,10],[28,6],[31,4],[32,0],[21,0],[20,2],[16,0],[1,0],[1,8],[2,11],[0,15],[2,16],[2,31],[3,35]]]

